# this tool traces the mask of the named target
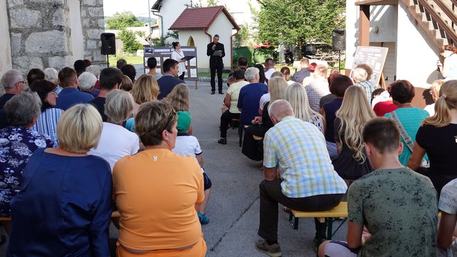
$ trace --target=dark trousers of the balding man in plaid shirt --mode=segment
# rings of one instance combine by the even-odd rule
[[[265,240],[278,240],[278,203],[297,211],[327,211],[337,206],[344,194],[313,195],[289,198],[283,195],[281,181],[264,180],[260,183],[260,224],[258,235]],[[315,222],[317,219],[314,219]],[[325,227],[323,228],[325,235]]]

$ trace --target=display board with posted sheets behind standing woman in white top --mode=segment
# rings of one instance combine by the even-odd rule
[[[147,67],[147,58],[155,57],[157,60],[156,73],[162,74],[163,61],[171,57],[173,48],[168,46],[145,46],[143,49],[143,64],[145,73],[149,72]],[[181,46],[181,51],[184,55],[195,56],[186,62],[187,72],[184,75],[185,80],[195,80],[195,89],[197,89],[198,71],[197,71],[197,47],[195,46]]]

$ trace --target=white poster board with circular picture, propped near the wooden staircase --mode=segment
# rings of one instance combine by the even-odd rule
[[[388,48],[386,47],[377,47],[377,46],[357,46],[354,55],[354,62],[352,63],[352,70],[359,64],[368,64],[371,69],[373,69],[373,75],[371,76],[370,81],[374,85],[379,85],[379,80],[382,76],[382,70],[384,69],[384,64],[386,63]],[[352,78],[352,70],[350,77]],[[385,82],[381,82],[385,88]]]

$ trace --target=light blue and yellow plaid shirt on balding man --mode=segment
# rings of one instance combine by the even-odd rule
[[[319,129],[293,116],[271,127],[264,138],[263,163],[278,166],[287,197],[346,193],[345,181],[334,171]]]

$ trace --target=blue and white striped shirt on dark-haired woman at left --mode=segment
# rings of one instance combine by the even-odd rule
[[[59,146],[57,139],[57,121],[59,121],[62,110],[57,108],[48,108],[39,114],[37,123],[33,125],[33,130],[51,136],[55,147]]]

